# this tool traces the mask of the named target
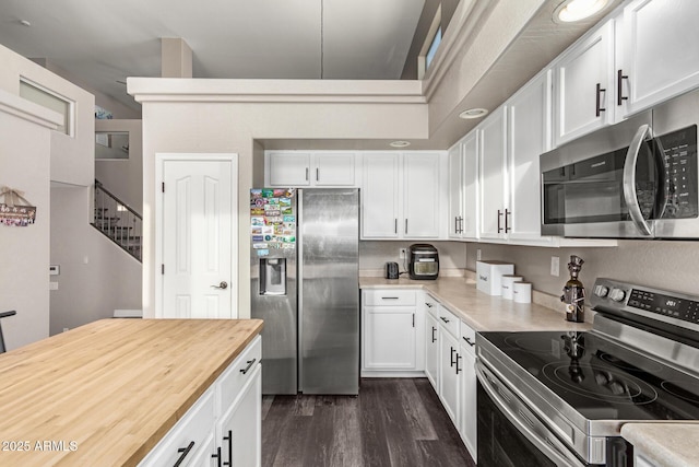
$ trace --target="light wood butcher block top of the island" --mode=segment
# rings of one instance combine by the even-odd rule
[[[0,466],[137,465],[260,319],[104,319],[0,354]]]

